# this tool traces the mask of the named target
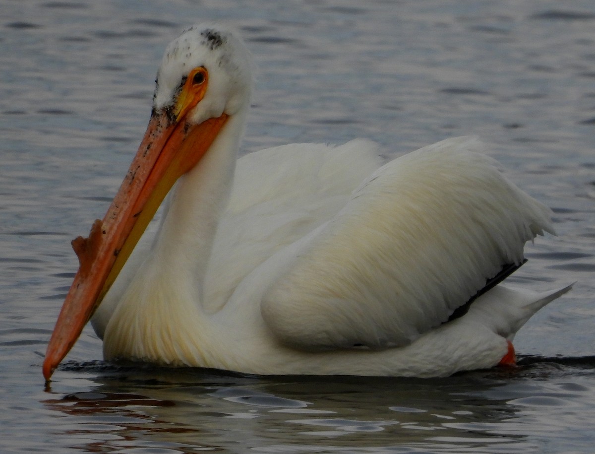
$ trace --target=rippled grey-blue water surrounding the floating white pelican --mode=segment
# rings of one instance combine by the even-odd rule
[[[501,1],[2,1],[2,452],[592,452],[595,7]],[[50,387],[45,344],[150,111],[164,46],[243,30],[259,75],[245,151],[373,138],[386,156],[476,134],[555,211],[510,280],[577,281],[522,329],[516,370],[440,380],[113,366],[86,328]]]

